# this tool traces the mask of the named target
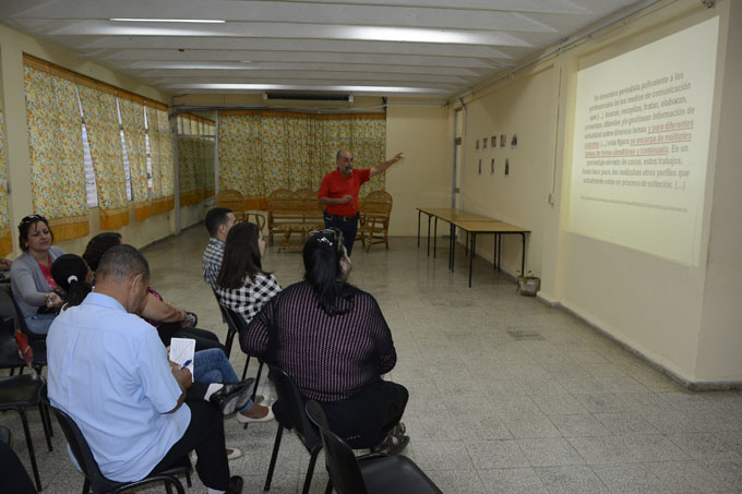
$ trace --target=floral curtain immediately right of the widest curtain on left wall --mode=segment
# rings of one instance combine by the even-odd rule
[[[129,202],[116,96],[106,89],[108,88],[79,85],[98,188],[100,228],[117,230],[129,225]]]

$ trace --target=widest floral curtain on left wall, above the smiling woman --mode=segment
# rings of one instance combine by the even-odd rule
[[[91,228],[76,85],[55,71],[24,57],[33,213],[49,219],[59,241],[86,237]]]

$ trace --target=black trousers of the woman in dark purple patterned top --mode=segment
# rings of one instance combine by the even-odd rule
[[[330,430],[354,449],[372,448],[402,419],[409,394],[404,386],[379,379],[338,401],[321,401]]]

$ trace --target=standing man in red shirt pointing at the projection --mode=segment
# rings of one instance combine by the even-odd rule
[[[394,158],[373,168],[354,170],[352,154],[347,149],[337,152],[337,169],[324,176],[316,196],[325,209],[325,228],[334,227],[343,232],[348,255],[352,251],[358,231],[358,192],[361,185],[403,159],[402,153],[397,153]]]

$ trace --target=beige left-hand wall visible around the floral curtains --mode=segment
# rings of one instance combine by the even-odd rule
[[[15,227],[21,218],[33,213],[31,161],[23,85],[24,52],[132,93],[165,104],[170,103],[170,97],[165,93],[145,86],[131,77],[104,67],[80,59],[57,46],[0,25],[0,97],[3,103],[3,120],[5,123],[4,146],[11,189],[9,194],[10,224],[15,249],[11,257],[15,257],[21,253],[16,245],[17,228]],[[203,219],[204,215],[205,208],[202,205],[183,208],[182,226],[193,225]],[[146,245],[176,231],[175,210],[140,222],[136,221],[132,207],[130,221],[130,225],[123,227],[120,231],[127,242],[136,246]],[[93,208],[91,209],[91,236],[99,231],[98,209]],[[88,238],[63,241],[59,245],[68,252],[82,253]]]

